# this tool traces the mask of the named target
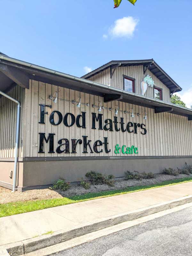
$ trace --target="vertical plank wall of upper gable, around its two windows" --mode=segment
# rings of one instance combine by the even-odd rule
[[[114,69],[112,69],[113,71]],[[92,80],[97,83],[111,85],[118,89],[123,90],[123,75],[135,78],[135,92],[141,94],[140,83],[143,81],[144,76],[151,76],[157,87],[163,89],[163,100],[170,102],[170,91],[156,76],[154,76],[149,70],[143,75],[143,66],[129,66],[129,67],[118,67],[116,68],[110,83],[110,68],[90,77],[88,80]],[[145,93],[146,96],[154,98],[153,89],[148,86]]]

